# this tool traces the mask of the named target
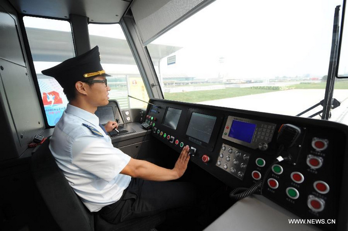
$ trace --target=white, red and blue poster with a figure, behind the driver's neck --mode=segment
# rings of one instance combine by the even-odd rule
[[[39,78],[39,87],[48,125],[55,126],[67,108],[63,88],[54,78]]]

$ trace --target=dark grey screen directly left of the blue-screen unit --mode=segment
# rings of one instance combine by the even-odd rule
[[[194,139],[209,143],[216,117],[192,112],[186,135]]]

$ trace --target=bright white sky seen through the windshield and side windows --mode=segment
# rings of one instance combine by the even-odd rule
[[[182,47],[172,54],[175,64],[163,57],[161,73],[156,70],[167,77],[322,77],[328,73],[339,4],[342,0],[216,0],[152,42]],[[67,21],[25,18],[28,27],[71,30]],[[96,24],[88,29],[93,35],[125,38],[118,24],[112,30]],[[348,60],[348,54],[342,56]]]

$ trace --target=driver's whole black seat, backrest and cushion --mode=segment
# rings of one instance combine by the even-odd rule
[[[31,172],[38,190],[62,231],[148,231],[165,220],[165,213],[110,224],[87,210],[69,185],[49,150],[49,138],[31,158]]]

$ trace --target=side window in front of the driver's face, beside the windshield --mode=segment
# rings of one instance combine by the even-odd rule
[[[142,77],[119,24],[89,24],[90,47],[99,47],[101,66],[107,74],[110,99],[123,108],[146,108],[147,104],[128,95],[149,100]]]

